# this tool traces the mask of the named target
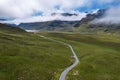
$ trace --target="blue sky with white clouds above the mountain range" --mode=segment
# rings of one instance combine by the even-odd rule
[[[119,10],[119,6],[120,0],[0,0],[0,18],[16,24],[55,19],[71,21],[85,17],[85,12],[116,7]],[[53,17],[51,13],[76,13],[78,16]]]

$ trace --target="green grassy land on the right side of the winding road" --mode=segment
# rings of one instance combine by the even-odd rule
[[[80,60],[66,80],[120,80],[120,36],[43,34],[71,44]]]

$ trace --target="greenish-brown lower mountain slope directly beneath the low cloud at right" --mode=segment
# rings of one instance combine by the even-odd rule
[[[76,28],[75,32],[89,33],[89,34],[103,34],[103,33],[113,33],[120,34],[120,25],[105,25],[105,24],[89,24],[83,23]]]

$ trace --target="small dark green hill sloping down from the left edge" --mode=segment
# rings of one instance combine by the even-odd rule
[[[7,32],[7,33],[24,33],[25,30],[20,29],[18,27],[13,27],[7,24],[0,23],[0,32]]]

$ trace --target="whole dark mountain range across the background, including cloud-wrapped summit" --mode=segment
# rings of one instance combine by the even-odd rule
[[[106,23],[91,23],[93,20],[100,19],[105,16],[107,9],[100,9],[97,12],[87,13],[85,18],[80,21],[46,21],[34,23],[21,23],[18,25],[25,30],[39,30],[39,31],[68,31],[80,33],[101,33],[101,32],[120,32],[120,24],[106,24]],[[71,13],[52,13],[53,17],[56,15],[62,16],[77,16]]]

